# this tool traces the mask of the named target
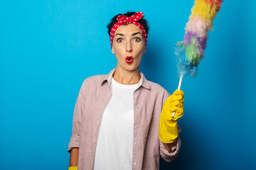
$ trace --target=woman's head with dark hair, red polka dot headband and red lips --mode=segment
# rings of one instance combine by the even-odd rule
[[[149,32],[147,21],[142,17],[143,13],[127,12],[114,16],[107,25],[117,67],[129,71],[139,69]]]

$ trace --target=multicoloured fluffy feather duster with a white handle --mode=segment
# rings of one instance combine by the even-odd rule
[[[204,57],[208,30],[213,30],[213,18],[220,11],[222,2],[223,0],[195,0],[191,9],[191,16],[189,16],[189,21],[186,23],[184,40],[176,44],[175,54],[180,77],[178,90],[181,89],[181,81],[184,75],[196,76],[198,64]],[[172,117],[174,118],[174,113]]]

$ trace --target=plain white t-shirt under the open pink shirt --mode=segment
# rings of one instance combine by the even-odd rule
[[[138,84],[119,84],[112,78],[112,97],[103,113],[97,139],[95,170],[132,169],[133,93],[141,83],[142,79]]]

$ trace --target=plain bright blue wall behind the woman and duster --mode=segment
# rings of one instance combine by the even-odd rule
[[[193,0],[1,1],[0,167],[67,169],[82,81],[116,67],[107,23],[143,11],[150,30],[140,71],[171,94],[174,45]],[[255,1],[224,1],[198,76],[185,77],[178,158],[161,169],[256,169]]]

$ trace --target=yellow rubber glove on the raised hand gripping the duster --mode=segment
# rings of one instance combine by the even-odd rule
[[[159,139],[164,143],[172,143],[178,137],[177,119],[183,115],[183,101],[184,92],[176,90],[164,102],[159,120]],[[174,111],[174,120],[171,120]]]

